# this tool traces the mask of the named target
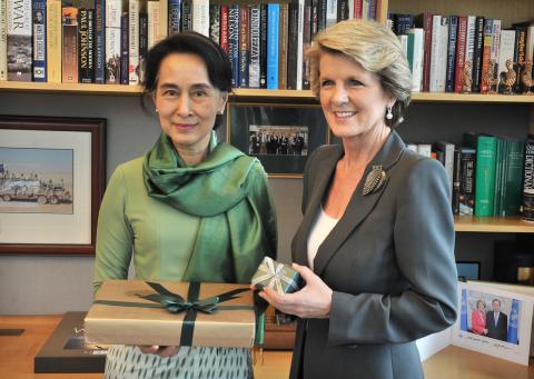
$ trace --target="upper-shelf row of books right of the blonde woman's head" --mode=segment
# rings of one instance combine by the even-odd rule
[[[389,14],[413,72],[413,91],[532,93],[534,23],[479,16]]]

